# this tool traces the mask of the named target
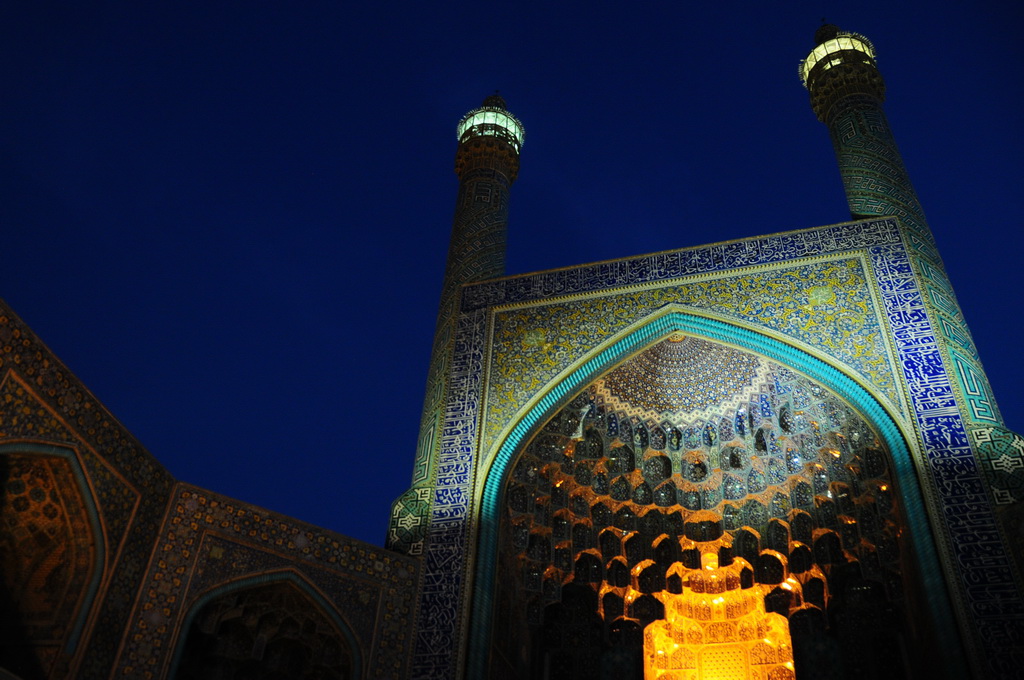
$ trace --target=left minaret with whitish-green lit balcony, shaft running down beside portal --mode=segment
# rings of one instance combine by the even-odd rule
[[[522,124],[498,94],[486,97],[483,105],[463,116],[457,132],[455,172],[459,196],[427,374],[413,488],[395,501],[388,528],[388,546],[413,554],[423,547],[422,532],[430,503],[427,485],[432,481],[430,461],[443,416],[459,289],[505,273],[509,189],[519,173],[519,150],[525,137]]]

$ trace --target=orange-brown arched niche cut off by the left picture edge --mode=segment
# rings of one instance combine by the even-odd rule
[[[78,650],[104,539],[75,452],[0,444],[0,667],[44,677]]]

